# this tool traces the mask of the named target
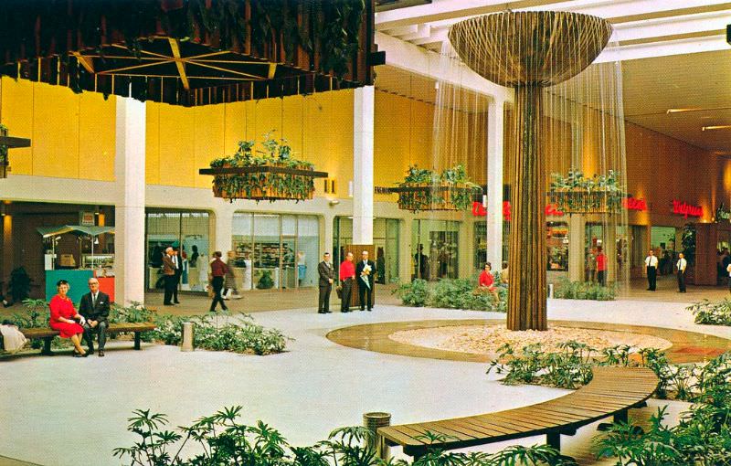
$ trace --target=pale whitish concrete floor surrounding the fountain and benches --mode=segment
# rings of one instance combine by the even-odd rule
[[[661,282],[661,289],[667,284]],[[566,393],[547,387],[503,386],[499,375],[485,374],[482,362],[376,353],[326,338],[353,325],[503,319],[503,314],[380,302],[374,312],[323,315],[314,312],[313,291],[298,293],[297,298],[292,298],[297,293],[252,293],[231,305],[235,311],[262,311],[254,314],[258,323],[293,337],[281,355],[182,353],[156,344],[145,344],[143,351],[135,352],[129,350],[129,342],[115,342],[103,359],[29,355],[0,360],[0,455],[47,466],[120,464],[111,457],[111,450],[134,440],[125,427],[136,408],[167,413],[171,425],[178,426],[219,408],[241,405],[245,422],[262,419],[280,429],[291,444],[304,445],[323,440],[336,427],[359,424],[362,414],[372,410],[390,412],[395,423],[407,423],[515,408]],[[725,293],[691,289],[677,295],[685,302],[671,302],[676,298],[672,290],[615,302],[550,300],[549,318],[649,325],[731,338],[731,328],[696,325],[684,309],[687,302],[716,294]],[[386,293],[382,296],[386,298]],[[151,296],[150,301],[158,298]],[[175,312],[207,309],[205,297],[181,296],[181,300]],[[291,309],[270,310],[278,305]],[[631,414],[647,418],[664,404],[654,400],[649,408]],[[670,405],[671,421],[687,408],[683,403]],[[564,438],[565,452],[581,464],[612,464],[593,460],[590,439],[594,434],[595,429],[588,426],[579,429],[577,436]],[[84,448],[77,439],[94,439],[94,446]],[[530,438],[520,443],[542,441]],[[74,447],[78,443],[79,448]],[[483,448],[498,450],[505,445]]]

